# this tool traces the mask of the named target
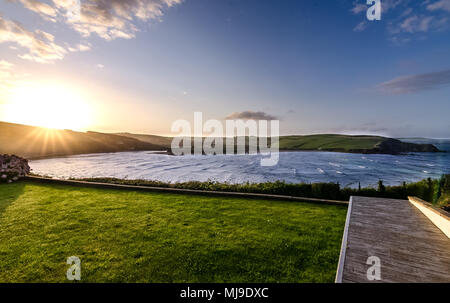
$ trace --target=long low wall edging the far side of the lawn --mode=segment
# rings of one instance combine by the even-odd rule
[[[166,187],[135,186],[135,185],[122,185],[122,184],[100,183],[100,182],[60,180],[60,179],[51,179],[51,178],[36,177],[36,176],[26,176],[24,178],[24,180],[35,181],[35,182],[40,182],[40,183],[53,183],[53,184],[61,184],[61,185],[85,186],[85,187],[105,188],[105,189],[135,190],[135,191],[148,191],[148,192],[168,192],[168,193],[179,193],[179,194],[242,197],[242,198],[269,199],[269,200],[290,200],[290,201],[298,201],[298,202],[348,205],[347,201],[325,200],[325,199],[283,196],[283,195],[268,195],[268,194],[256,194],[256,193],[220,192],[220,191],[206,191],[206,190],[166,188]]]

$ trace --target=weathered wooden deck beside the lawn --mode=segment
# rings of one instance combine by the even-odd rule
[[[381,280],[370,281],[369,257]],[[352,197],[338,283],[450,282],[450,239],[407,200]]]

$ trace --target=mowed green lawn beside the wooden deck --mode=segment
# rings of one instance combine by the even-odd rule
[[[0,185],[0,282],[333,282],[346,207]]]

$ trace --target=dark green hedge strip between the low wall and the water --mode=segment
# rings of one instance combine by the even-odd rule
[[[37,177],[46,177],[34,175]],[[51,178],[51,177],[50,177]],[[263,183],[220,183],[215,181],[186,181],[163,182],[157,180],[118,179],[118,178],[81,178],[69,179],[75,181],[108,183],[127,186],[143,186],[157,188],[174,188],[183,190],[207,191],[207,192],[232,192],[250,193],[275,196],[298,197],[300,199],[318,199],[330,201],[348,201],[352,196],[389,198],[408,200],[409,196],[419,197],[430,201],[435,206],[449,211],[450,207],[450,175],[444,175],[440,179],[426,179],[415,183],[404,182],[401,185],[385,186],[383,181],[378,182],[378,187],[358,188],[341,187],[339,183],[288,183],[285,181]]]

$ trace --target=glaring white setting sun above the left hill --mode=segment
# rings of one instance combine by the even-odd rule
[[[60,83],[15,87],[3,106],[8,122],[53,129],[85,130],[91,123],[87,98]]]

